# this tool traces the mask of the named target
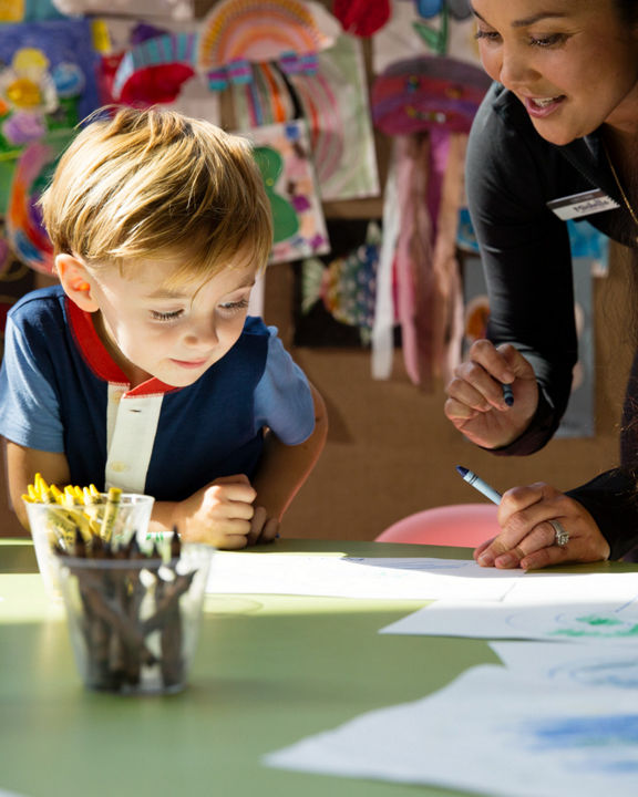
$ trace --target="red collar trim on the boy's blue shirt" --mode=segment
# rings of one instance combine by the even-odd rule
[[[71,332],[82,352],[89,368],[100,379],[110,384],[123,385],[128,387],[130,381],[124,371],[113,360],[104,343],[102,343],[97,331],[93,324],[93,313],[81,310],[74,301],[65,297],[66,315]],[[125,393],[126,396],[151,396],[161,395],[171,391],[179,390],[174,385],[167,385],[158,379],[152,376],[146,382],[133,387]]]

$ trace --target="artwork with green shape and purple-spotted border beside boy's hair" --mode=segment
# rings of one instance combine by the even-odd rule
[[[246,135],[255,144],[255,157],[272,208],[270,262],[329,252],[305,122],[255,127]]]

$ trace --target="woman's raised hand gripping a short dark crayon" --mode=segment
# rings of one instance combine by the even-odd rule
[[[505,403],[503,384],[512,385],[512,406]],[[510,343],[495,346],[488,340],[472,344],[467,360],[454,369],[446,393],[445,415],[483,448],[501,448],[519,437],[538,406],[532,365]]]

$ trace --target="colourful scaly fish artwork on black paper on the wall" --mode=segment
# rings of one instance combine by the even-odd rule
[[[295,344],[368,346],[374,323],[381,228],[329,219],[331,255],[296,265]]]

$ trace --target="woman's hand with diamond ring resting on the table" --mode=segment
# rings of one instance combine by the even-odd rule
[[[556,544],[556,529],[549,520],[558,521],[569,535],[566,545]],[[542,482],[504,493],[498,522],[501,534],[474,551],[482,567],[535,570],[609,558],[609,544],[587,509]]]

